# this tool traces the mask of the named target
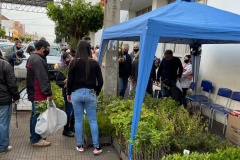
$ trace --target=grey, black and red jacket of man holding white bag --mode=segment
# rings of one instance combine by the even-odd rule
[[[52,95],[45,57],[33,53],[27,61],[27,93],[31,102],[46,100]]]

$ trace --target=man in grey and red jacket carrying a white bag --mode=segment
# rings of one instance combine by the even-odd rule
[[[30,140],[32,146],[44,147],[51,145],[50,142],[42,139],[42,137],[35,132],[37,118],[36,106],[38,102],[44,100],[52,100],[52,90],[46,56],[49,54],[50,44],[47,41],[39,40],[35,44],[35,52],[31,54],[27,61],[27,94],[29,101],[32,102],[32,114],[30,118]]]

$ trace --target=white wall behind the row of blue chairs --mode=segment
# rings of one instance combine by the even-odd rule
[[[240,14],[239,0],[208,0],[208,5]],[[212,81],[215,90],[211,99],[214,100],[220,87],[240,91],[239,61],[240,45],[238,44],[203,45],[198,86],[202,79]],[[218,102],[225,104],[226,99],[220,99]],[[240,109],[240,103],[234,103],[232,107]],[[224,122],[221,114],[217,114],[216,120]]]

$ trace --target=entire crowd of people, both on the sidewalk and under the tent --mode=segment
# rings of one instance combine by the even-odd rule
[[[76,149],[84,151],[83,146],[83,120],[84,108],[87,112],[93,139],[94,154],[100,154],[102,148],[99,145],[99,132],[96,117],[97,99],[103,86],[103,77],[98,54],[100,46],[91,46],[91,39],[86,37],[79,41],[77,49],[70,45],[61,50],[61,67],[57,73],[56,84],[62,88],[62,96],[65,101],[67,124],[64,126],[63,135],[77,137]],[[13,66],[16,59],[21,59],[24,54],[21,49],[21,41],[16,41],[5,55],[6,60],[0,59],[0,153],[10,151],[9,145],[10,120],[12,102],[19,102],[19,91]],[[39,40],[35,47],[29,46],[27,52],[30,57],[27,60],[27,94],[32,102],[32,114],[30,117],[30,141],[32,146],[49,146],[51,142],[47,137],[35,132],[37,118],[37,106],[40,101],[53,99],[51,83],[48,73],[46,57],[50,52],[50,44],[46,40]],[[119,55],[119,82],[120,97],[125,97],[125,92],[130,87],[129,94],[134,93],[138,82],[139,72],[139,43],[134,44],[133,51],[128,54],[129,45],[124,44]],[[192,81],[191,56],[186,55],[184,65],[179,58],[173,56],[171,50],[166,50],[162,61],[155,58],[148,80],[146,92],[153,96],[153,83],[161,82],[162,98],[172,97],[179,104],[185,104],[184,96]],[[182,88],[177,87],[180,83]]]

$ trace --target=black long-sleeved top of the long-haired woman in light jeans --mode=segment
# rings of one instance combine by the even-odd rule
[[[75,67],[71,70],[71,65],[74,61],[75,60],[73,60],[69,66],[67,95],[71,95],[72,92],[81,88],[94,89],[96,94],[99,95],[103,86],[103,77],[98,62],[89,59],[90,72],[88,80],[86,80],[85,62],[82,59],[77,59]]]

